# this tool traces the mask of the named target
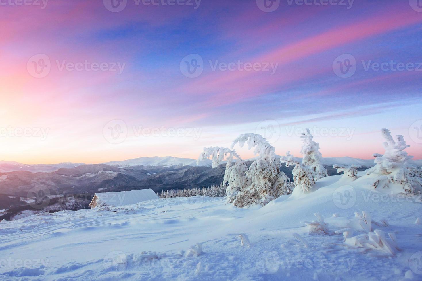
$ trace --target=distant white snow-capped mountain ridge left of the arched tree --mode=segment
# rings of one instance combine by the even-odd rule
[[[130,167],[130,166],[163,166],[163,167],[169,167],[169,166],[198,166],[196,164],[195,159],[190,158],[178,158],[173,156],[165,156],[165,157],[140,157],[135,159],[129,159],[129,160],[123,160],[123,161],[111,161],[104,164],[112,165],[112,166],[118,166],[118,167]],[[199,163],[199,166],[206,166],[211,167],[211,160],[208,161],[201,161]]]

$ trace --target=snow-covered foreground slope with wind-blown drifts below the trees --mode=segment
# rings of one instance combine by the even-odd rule
[[[332,176],[262,208],[196,196],[34,215],[0,223],[0,279],[420,280],[420,210]]]

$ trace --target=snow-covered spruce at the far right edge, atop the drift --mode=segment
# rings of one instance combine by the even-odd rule
[[[387,129],[381,130],[382,136],[386,140],[383,145],[384,155],[373,154],[375,166],[368,170],[367,174],[379,175],[373,183],[373,187],[388,187],[389,183],[400,184],[405,194],[415,194],[422,191],[422,178],[420,170],[411,165],[408,160],[413,156],[408,156],[404,149],[406,144],[402,135],[394,138]]]

